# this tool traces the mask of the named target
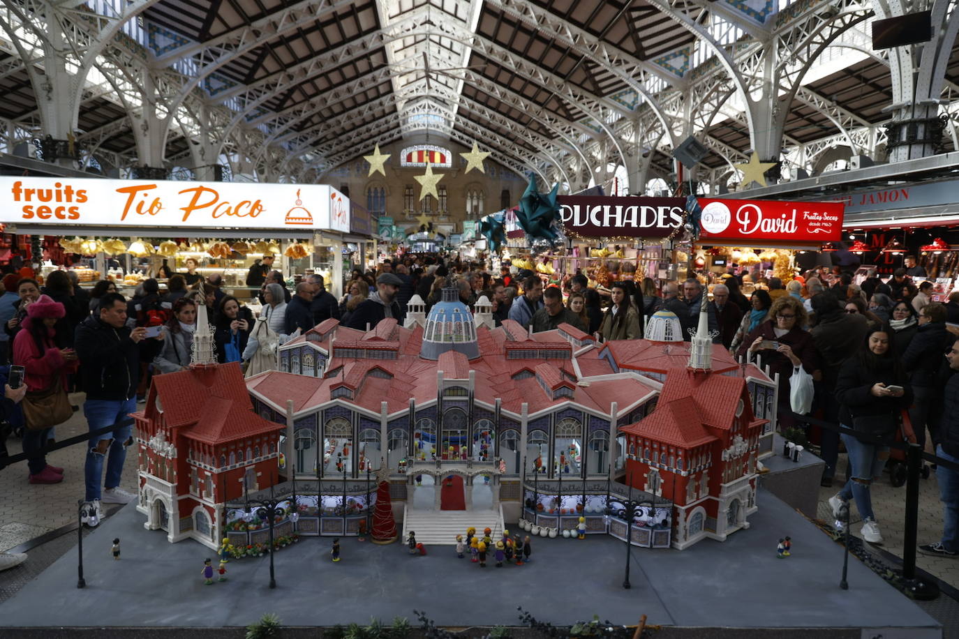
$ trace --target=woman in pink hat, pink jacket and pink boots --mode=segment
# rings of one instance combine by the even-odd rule
[[[56,346],[57,320],[66,314],[59,302],[47,295],[27,307],[22,331],[13,338],[13,363],[25,369],[27,392],[43,391],[54,383],[66,384],[66,376],[77,371],[79,364],[73,349]],[[32,429],[28,422],[23,431],[23,452],[28,455],[31,484],[58,484],[63,481],[63,468],[47,464],[43,446],[49,428]]]

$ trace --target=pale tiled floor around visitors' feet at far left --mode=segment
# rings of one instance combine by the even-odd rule
[[[71,394],[71,403],[82,406],[82,394]],[[57,426],[59,440],[87,432],[83,411],[73,414],[66,423]],[[7,440],[11,454],[22,452],[20,440],[11,437]],[[63,481],[59,484],[41,486],[27,482],[27,463],[20,462],[0,471],[0,550],[7,550],[23,543],[23,526],[36,527],[37,535],[77,521],[77,500],[83,498],[83,464],[86,459],[85,445],[72,445],[57,450],[47,456],[47,462],[63,468]],[[124,466],[121,486],[130,492],[136,492],[136,450],[129,448],[127,463]],[[10,524],[18,524],[8,528]],[[8,537],[7,531],[11,534]],[[16,543],[13,531],[19,531]]]

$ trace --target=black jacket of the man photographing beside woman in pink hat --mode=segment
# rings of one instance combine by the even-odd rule
[[[114,329],[96,315],[77,327],[75,345],[86,399],[122,401],[133,397],[140,374],[140,346],[127,327]],[[152,340],[155,341],[155,340]]]

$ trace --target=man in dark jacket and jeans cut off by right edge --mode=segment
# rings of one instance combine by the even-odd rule
[[[952,376],[943,394],[943,422],[936,454],[959,464],[959,340],[952,343],[946,359]],[[936,482],[943,502],[943,537],[921,545],[919,552],[933,557],[959,557],[959,472],[940,464],[936,468]]]

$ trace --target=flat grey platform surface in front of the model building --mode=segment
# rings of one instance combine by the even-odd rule
[[[127,506],[86,537],[84,589],[75,587],[74,548],[0,605],[0,626],[240,627],[267,612],[286,626],[331,626],[412,619],[414,608],[438,625],[516,625],[522,605],[557,625],[594,614],[635,624],[646,614],[650,624],[675,627],[899,628],[894,636],[941,636],[936,620],[854,558],[850,589],[840,590],[842,547],[768,491],[758,500],[752,527],[726,542],[704,540],[682,552],[633,548],[630,590],[621,585],[625,545],[609,536],[537,537],[531,562],[503,568],[456,559],[448,546],[410,557],[399,543],[355,537],[341,540],[342,560],[332,563],[330,537],[304,537],[276,554],[275,590],[268,558],[232,560],[227,582],[204,585],[203,559],[214,553],[194,541],[167,543]],[[793,555],[777,559],[785,535]],[[122,540],[119,561],[110,557],[114,536]]]

